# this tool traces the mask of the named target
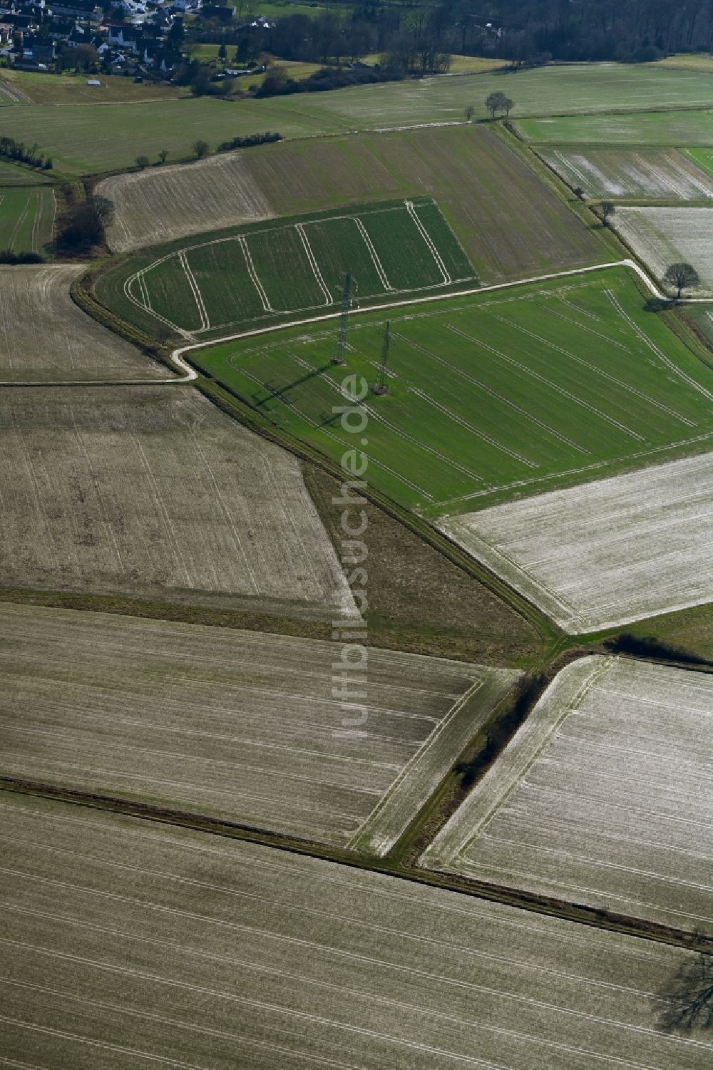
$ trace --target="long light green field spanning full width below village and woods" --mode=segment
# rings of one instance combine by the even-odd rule
[[[713,74],[656,64],[572,64],[384,82],[261,101],[152,101],[141,103],[138,112],[123,104],[106,104],[101,109],[26,105],[3,111],[3,133],[17,140],[36,141],[67,173],[91,173],[131,167],[141,153],[153,159],[161,149],[167,149],[171,159],[185,158],[197,136],[214,149],[218,141],[264,129],[293,138],[460,122],[469,105],[482,118],[486,114],[485,98],[494,90],[503,90],[515,101],[515,118],[713,107]],[[90,102],[100,98],[97,95]],[[678,138],[676,143],[707,142],[700,134],[689,141]]]

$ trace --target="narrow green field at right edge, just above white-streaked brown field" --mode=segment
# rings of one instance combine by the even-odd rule
[[[713,146],[713,111],[558,116],[518,120],[516,126],[522,137],[538,144]]]

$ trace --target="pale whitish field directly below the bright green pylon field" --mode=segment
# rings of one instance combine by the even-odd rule
[[[713,600],[713,454],[438,523],[572,633]]]

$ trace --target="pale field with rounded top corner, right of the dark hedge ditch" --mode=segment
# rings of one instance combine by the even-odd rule
[[[713,676],[567,666],[423,861],[713,932]]]

